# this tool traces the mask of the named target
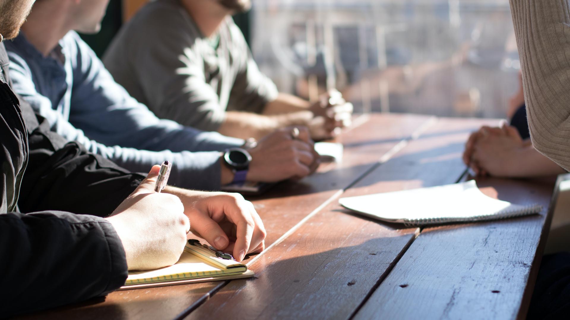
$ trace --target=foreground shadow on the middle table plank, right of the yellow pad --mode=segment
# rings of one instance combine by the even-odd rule
[[[273,253],[271,261],[256,262],[255,278],[231,281],[191,318],[214,319],[221,317],[219,313],[239,310],[244,319],[348,319],[387,276],[412,236],[413,231],[389,232],[385,237],[362,237],[360,244],[317,253],[307,244],[322,248],[327,242],[322,237],[298,243],[295,248]]]

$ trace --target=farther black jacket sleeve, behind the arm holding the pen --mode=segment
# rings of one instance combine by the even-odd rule
[[[18,201],[22,212],[60,210],[105,217],[144,179],[88,153],[77,142],[67,142],[24,101],[22,114],[30,146]]]

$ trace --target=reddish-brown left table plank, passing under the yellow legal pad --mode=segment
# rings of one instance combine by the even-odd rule
[[[266,245],[271,245],[336,192],[367,173],[383,154],[409,139],[429,119],[404,114],[372,116],[339,137],[345,145],[342,163],[324,165],[316,174],[299,182],[284,182],[263,198],[251,198],[268,231]],[[44,311],[30,318],[174,318],[189,313],[226,283],[218,281],[113,292],[104,300]]]

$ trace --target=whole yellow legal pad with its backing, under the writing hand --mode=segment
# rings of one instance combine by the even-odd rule
[[[206,245],[197,244],[186,243],[180,260],[174,265],[149,271],[130,271],[121,289],[247,278],[254,275],[251,270],[247,270],[245,264],[233,259],[221,259]]]

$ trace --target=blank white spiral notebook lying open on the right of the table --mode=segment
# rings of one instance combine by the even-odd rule
[[[538,214],[539,204],[520,206],[490,198],[475,180],[339,199],[340,204],[373,219],[405,225],[427,225],[507,219]]]

